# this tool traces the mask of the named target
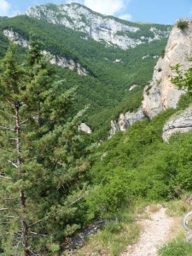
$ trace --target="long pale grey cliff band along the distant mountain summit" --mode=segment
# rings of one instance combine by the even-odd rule
[[[27,9],[26,15],[84,32],[84,39],[102,40],[107,45],[115,44],[122,49],[167,38],[170,32],[170,26],[141,25],[119,20],[93,12],[79,3],[37,5]]]

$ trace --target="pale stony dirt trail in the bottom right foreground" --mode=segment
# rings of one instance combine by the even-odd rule
[[[152,208],[151,208],[152,210]],[[174,218],[166,215],[166,208],[159,206],[156,212],[147,207],[146,214],[150,219],[141,218],[137,224],[141,225],[142,232],[139,240],[127,248],[121,256],[156,256],[157,247],[172,238]]]

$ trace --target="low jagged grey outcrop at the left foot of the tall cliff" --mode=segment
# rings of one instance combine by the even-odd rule
[[[126,131],[130,126],[138,120],[144,118],[142,108],[139,108],[137,112],[120,113],[118,121],[111,120],[111,131],[109,132],[109,138],[112,137],[117,131]]]

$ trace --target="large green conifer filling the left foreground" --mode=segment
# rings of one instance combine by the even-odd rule
[[[63,91],[31,43],[25,65],[10,44],[0,74],[0,233],[5,255],[55,255],[79,227],[89,164]],[[51,252],[53,254],[51,254]]]

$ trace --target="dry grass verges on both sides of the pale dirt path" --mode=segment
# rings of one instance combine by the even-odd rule
[[[192,256],[192,244],[185,239],[186,232],[182,226],[182,218],[186,212],[191,210],[191,206],[185,201],[186,195],[181,200],[160,201],[160,205],[167,208],[167,215],[174,218],[172,227],[172,239],[159,248],[160,256]],[[76,250],[74,256],[84,255],[108,255],[118,256],[124,252],[129,245],[137,242],[140,234],[135,219],[150,218],[150,213],[157,212],[160,205],[154,201],[138,200],[131,209],[121,209],[114,216],[108,216],[113,222],[105,224],[102,230],[98,230],[91,236],[83,247]]]

